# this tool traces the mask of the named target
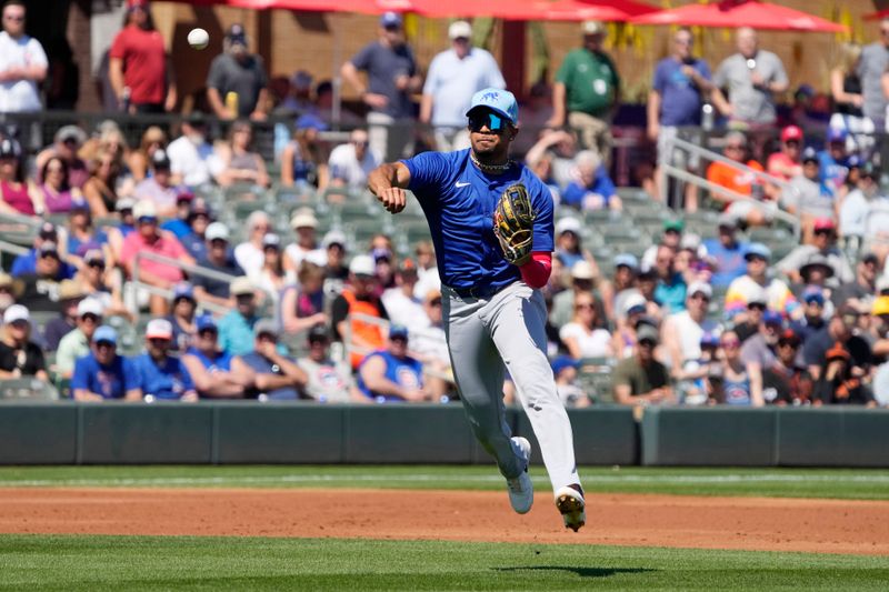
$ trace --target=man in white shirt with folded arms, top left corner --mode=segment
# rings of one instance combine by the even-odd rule
[[[7,113],[40,111],[38,84],[47,78],[49,61],[40,41],[24,32],[24,2],[3,3],[0,32],[0,106]]]

